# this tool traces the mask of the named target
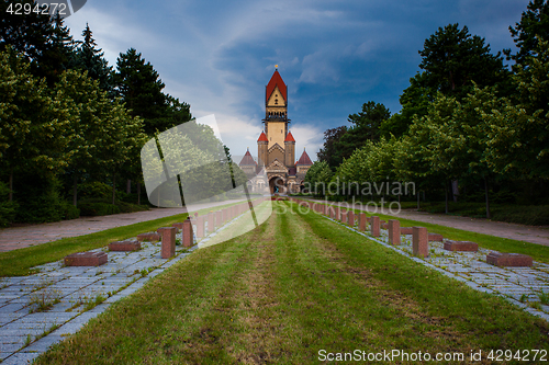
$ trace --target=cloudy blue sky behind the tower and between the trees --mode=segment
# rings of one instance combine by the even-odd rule
[[[111,66],[134,47],[191,105],[214,114],[233,155],[256,140],[274,65],[288,85],[296,153],[313,160],[323,133],[348,124],[368,101],[400,111],[426,38],[467,25],[495,54],[514,48],[508,26],[527,0],[198,1],[88,0],[66,19],[75,38],[89,23]],[[296,156],[299,158],[299,156]]]

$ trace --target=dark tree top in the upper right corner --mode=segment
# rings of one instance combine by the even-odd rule
[[[507,59],[513,59],[516,65],[525,65],[528,57],[537,54],[538,37],[549,41],[549,2],[546,0],[533,0],[528,3],[527,10],[523,12],[520,22],[515,23],[515,27],[509,26],[509,32],[518,48],[516,54],[511,53],[511,48],[503,53]]]

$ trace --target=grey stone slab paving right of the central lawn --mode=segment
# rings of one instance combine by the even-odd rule
[[[323,216],[359,235],[390,248],[411,260],[429,266],[446,276],[466,283],[479,292],[503,296],[531,315],[549,321],[549,305],[541,303],[540,296],[549,299],[549,264],[534,261],[531,267],[498,267],[486,263],[490,250],[479,248],[478,252],[444,250],[442,242],[429,242],[429,256],[423,259],[412,254],[412,235],[403,235],[400,246],[389,244],[389,231],[382,229],[380,237],[372,237],[358,227],[349,227]]]

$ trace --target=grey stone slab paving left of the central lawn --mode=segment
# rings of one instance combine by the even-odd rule
[[[181,233],[177,238],[181,240]],[[143,242],[139,251],[108,252],[109,261],[101,266],[64,266],[61,260],[37,266],[34,275],[0,278],[2,365],[34,360],[197,248],[177,246],[176,256],[165,260],[160,246]],[[101,250],[108,251],[91,251]],[[55,304],[32,312],[41,301]]]

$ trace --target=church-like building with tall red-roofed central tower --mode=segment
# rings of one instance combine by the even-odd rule
[[[298,193],[313,164],[303,150],[295,161],[295,139],[289,129],[288,90],[282,77],[274,71],[266,87],[264,132],[257,139],[257,161],[246,151],[239,167],[249,179],[255,193]]]

